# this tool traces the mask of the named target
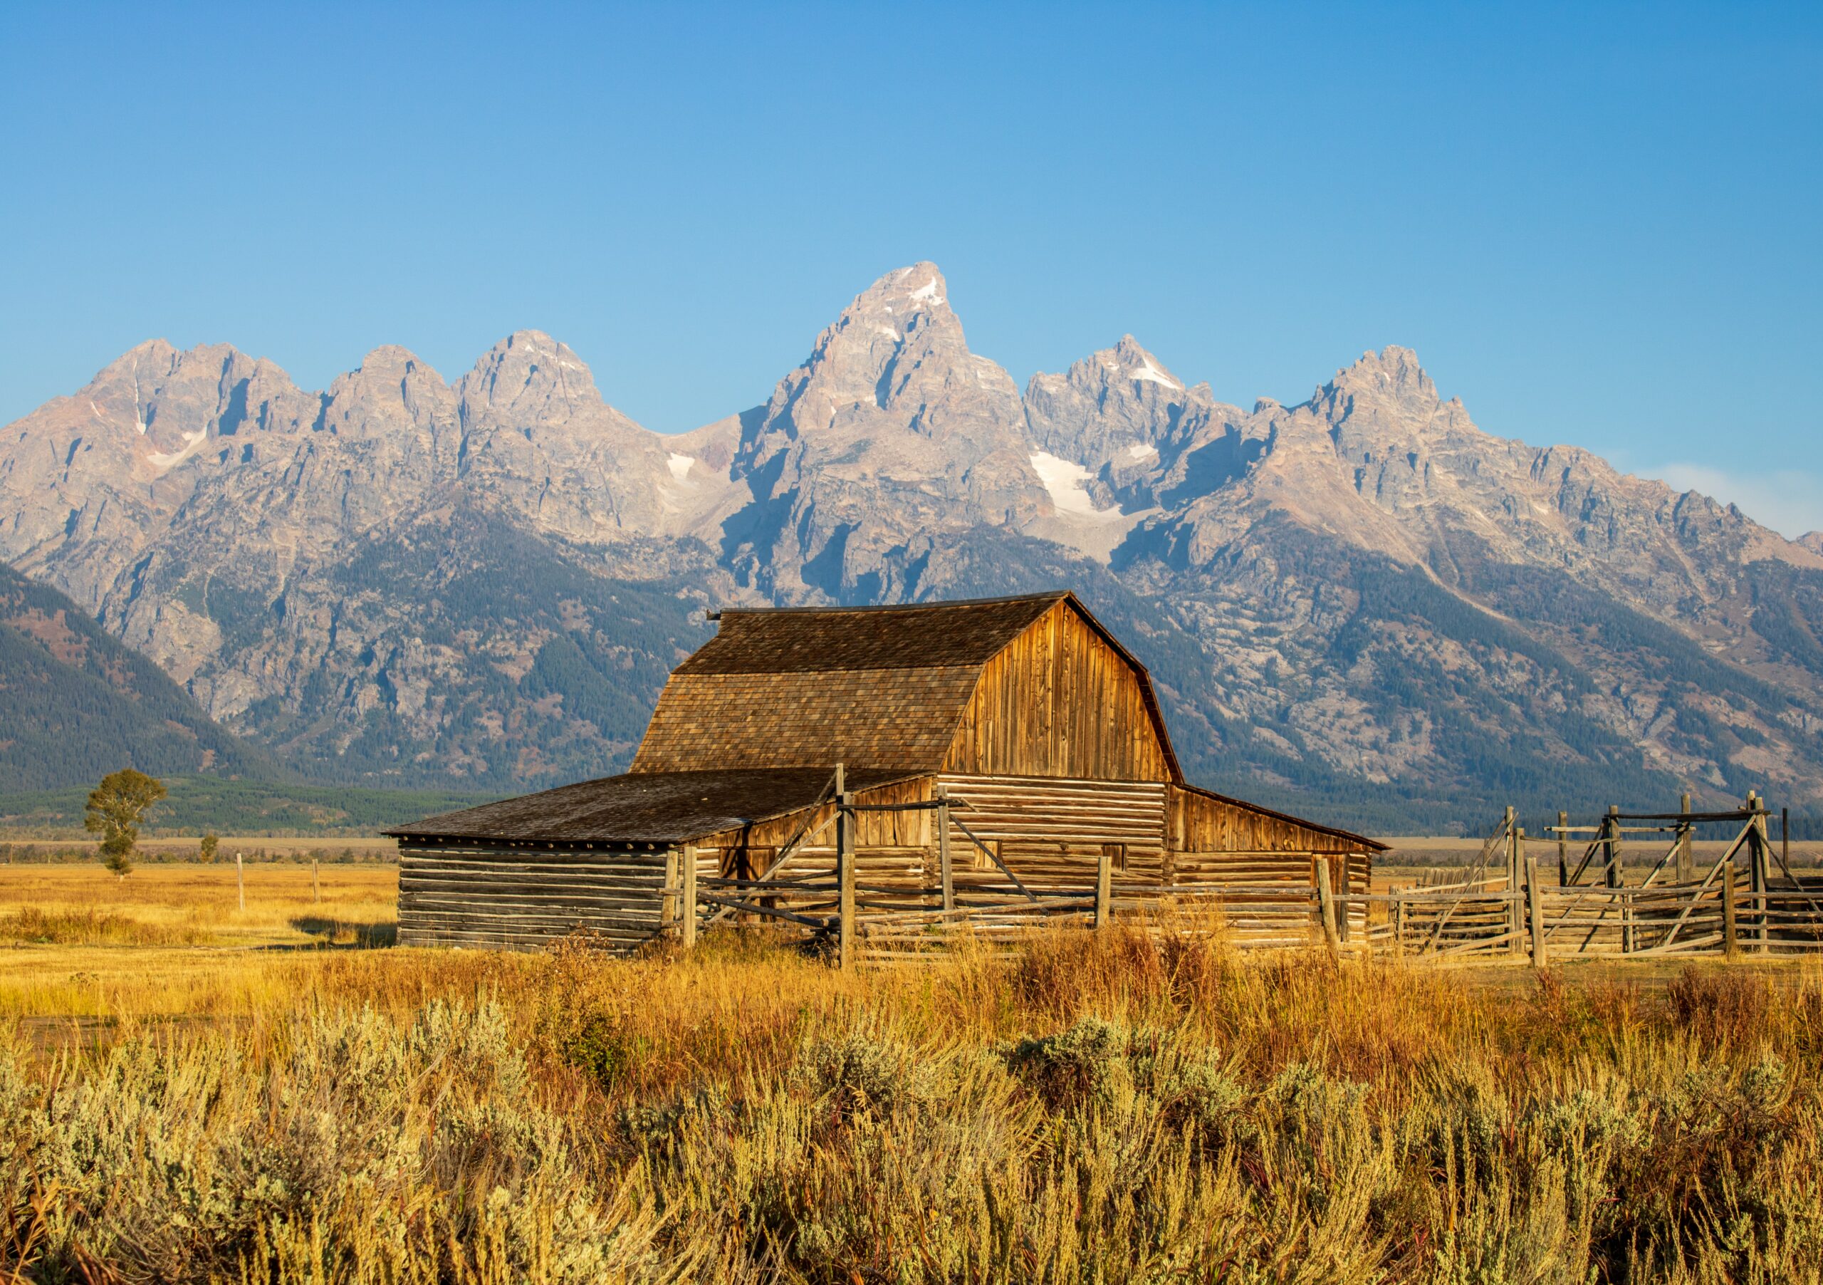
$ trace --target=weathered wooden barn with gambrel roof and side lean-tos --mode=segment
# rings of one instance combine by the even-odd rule
[[[1183,780],[1145,667],[1070,592],[718,620],[629,773],[390,831],[401,942],[633,948],[837,913],[846,942],[855,915],[1087,913],[1097,879],[1097,913],[1298,889],[1289,930],[1252,924],[1296,937],[1318,879],[1367,891],[1384,849]]]

